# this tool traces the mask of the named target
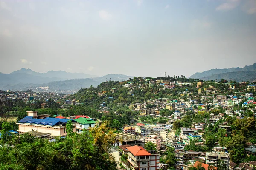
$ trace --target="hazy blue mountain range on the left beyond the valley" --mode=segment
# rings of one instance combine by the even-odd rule
[[[21,68],[10,74],[0,73],[0,88],[4,90],[26,90],[48,86],[52,91],[78,90],[91,85],[97,86],[106,80],[123,81],[131,76],[108,74],[102,77],[84,73],[67,73],[66,71],[48,71],[38,73]]]

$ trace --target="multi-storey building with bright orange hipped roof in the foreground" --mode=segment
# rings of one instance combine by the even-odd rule
[[[133,170],[159,170],[159,154],[149,153],[141,146],[126,147],[128,162]]]

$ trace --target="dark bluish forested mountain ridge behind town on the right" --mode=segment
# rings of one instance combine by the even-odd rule
[[[189,78],[202,79],[202,80],[236,80],[242,81],[256,81],[256,63],[252,65],[246,65],[243,68],[224,68],[224,69],[211,69],[203,71],[201,73],[195,73]]]

